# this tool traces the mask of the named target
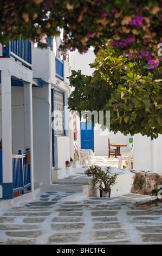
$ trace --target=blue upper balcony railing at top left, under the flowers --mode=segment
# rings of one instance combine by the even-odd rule
[[[14,58],[24,66],[31,68],[31,42],[29,39],[23,41],[22,38],[18,40],[9,41],[9,45],[2,47],[1,57]]]

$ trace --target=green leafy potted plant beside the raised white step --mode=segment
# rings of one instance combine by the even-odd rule
[[[88,177],[92,177],[92,186],[96,186],[100,190],[100,197],[103,197],[104,194],[108,194],[108,197],[111,196],[111,187],[115,184],[118,174],[110,175],[109,166],[105,170],[102,170],[99,166],[90,166],[85,174]]]

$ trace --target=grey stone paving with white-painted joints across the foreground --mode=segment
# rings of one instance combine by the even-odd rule
[[[1,210],[0,244],[162,244],[161,203],[137,205],[146,198],[135,194],[70,201],[73,194],[40,191],[32,202]]]

